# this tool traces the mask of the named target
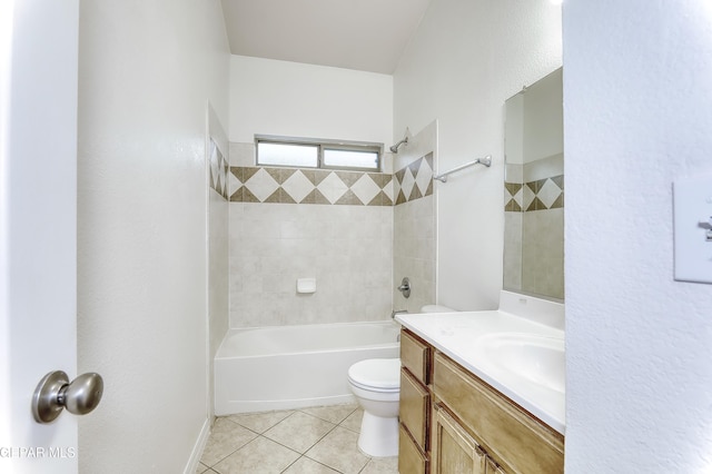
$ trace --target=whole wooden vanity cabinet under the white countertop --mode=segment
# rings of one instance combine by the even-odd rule
[[[400,344],[400,473],[564,472],[560,433],[407,329]]]

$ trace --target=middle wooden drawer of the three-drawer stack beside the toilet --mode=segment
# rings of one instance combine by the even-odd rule
[[[408,371],[400,369],[400,423],[411,432],[421,450],[427,451],[431,396]]]

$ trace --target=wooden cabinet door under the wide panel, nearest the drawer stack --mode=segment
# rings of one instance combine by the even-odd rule
[[[486,474],[477,442],[442,407],[433,411],[432,474]]]

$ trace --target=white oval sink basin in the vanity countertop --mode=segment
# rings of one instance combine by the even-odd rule
[[[487,365],[538,386],[564,393],[564,339],[526,333],[496,333],[477,339]]]

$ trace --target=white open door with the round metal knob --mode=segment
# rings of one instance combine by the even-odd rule
[[[76,473],[77,417],[38,424],[77,375],[78,0],[0,1],[0,472]]]

